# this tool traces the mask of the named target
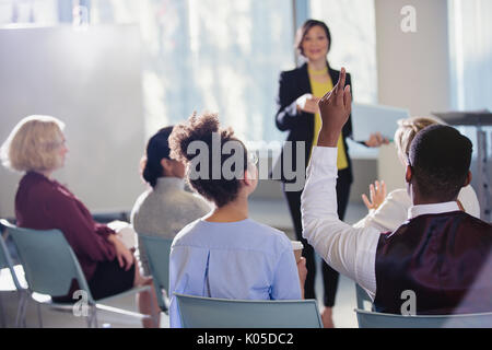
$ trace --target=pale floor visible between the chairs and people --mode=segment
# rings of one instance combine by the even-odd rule
[[[292,223],[290,217],[286,214],[286,207],[284,202],[279,201],[254,201],[250,203],[250,217],[257,221],[265,222],[283,230],[291,238],[293,238]],[[363,206],[349,206],[347,213],[347,222],[353,223],[365,214]],[[318,258],[319,259],[319,258]],[[319,264],[318,264],[319,265]],[[0,290],[3,290],[9,278],[5,275],[0,275]],[[321,279],[319,275],[316,281],[317,295],[323,294]],[[0,292],[1,302],[3,305],[3,314],[8,327],[13,327],[15,322],[15,313],[17,307],[16,292]],[[134,296],[126,296],[110,304],[112,306],[126,308],[129,311],[137,311]],[[318,305],[323,305],[321,300],[318,300]],[[341,276],[339,280],[336,306],[333,308],[333,322],[336,327],[352,328],[356,327],[356,318],[353,310],[355,308],[355,288],[353,281]],[[1,310],[0,310],[1,312]],[[59,313],[49,310],[47,306],[42,306],[42,315],[44,327],[86,327],[85,319],[75,317],[70,313]],[[141,323],[137,318],[121,316],[108,312],[98,312],[99,327],[113,328],[129,328],[141,327]],[[1,318],[0,318],[1,325]],[[30,302],[27,308],[27,326],[38,327],[36,306],[34,302]],[[161,327],[168,327],[168,317],[162,315]]]

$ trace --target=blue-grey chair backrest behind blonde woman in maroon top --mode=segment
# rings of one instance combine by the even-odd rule
[[[2,224],[17,248],[32,292],[63,296],[75,279],[80,289],[87,292],[89,301],[93,302],[79,260],[61,231],[21,229],[5,221]]]

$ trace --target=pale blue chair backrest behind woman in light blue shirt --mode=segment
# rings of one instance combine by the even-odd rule
[[[225,300],[175,293],[184,328],[321,328],[315,300]]]

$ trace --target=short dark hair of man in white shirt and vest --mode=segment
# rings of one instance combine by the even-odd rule
[[[455,128],[433,125],[417,133],[409,161],[419,192],[440,201],[455,200],[471,163],[471,141]]]

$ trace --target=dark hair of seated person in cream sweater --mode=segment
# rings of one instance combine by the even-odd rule
[[[162,128],[147,143],[142,177],[152,187],[155,187],[157,178],[163,176],[161,161],[163,159],[169,159],[171,150],[168,139],[172,131],[173,127]]]

